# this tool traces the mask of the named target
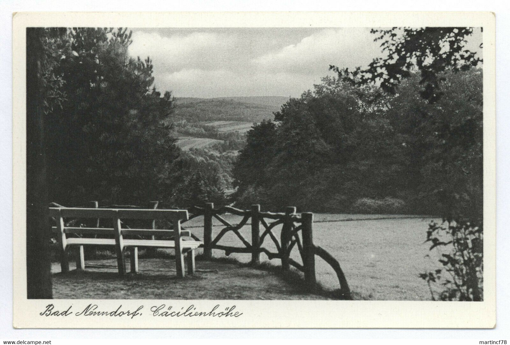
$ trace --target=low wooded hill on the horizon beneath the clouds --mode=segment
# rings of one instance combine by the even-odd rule
[[[172,120],[260,122],[273,119],[273,112],[287,100],[281,96],[175,98]]]

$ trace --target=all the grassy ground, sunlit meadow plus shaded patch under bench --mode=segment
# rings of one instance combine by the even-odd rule
[[[240,217],[223,215],[233,224]],[[339,262],[349,283],[353,298],[357,300],[430,300],[426,283],[418,277],[422,272],[438,268],[439,253],[429,252],[423,243],[430,218],[404,215],[363,214],[315,214],[314,243],[333,255]],[[382,218],[382,219],[381,219]],[[362,220],[363,219],[363,220]],[[214,235],[223,226],[214,219]],[[183,225],[195,235],[203,238],[203,217],[197,217]],[[262,227],[261,227],[262,228]],[[248,241],[250,226],[241,229]],[[279,238],[281,226],[273,229]],[[219,244],[243,247],[233,232],[228,232]],[[275,252],[269,236],[263,247]],[[141,274],[118,278],[115,274],[115,259],[110,253],[104,259],[87,260],[87,264],[106,264],[110,268],[74,272],[70,275],[54,276],[56,298],[172,298],[172,299],[327,299],[328,294],[307,295],[301,290],[302,282],[283,279],[272,269],[254,269],[234,265],[225,258],[224,252],[214,250],[220,261],[197,261],[200,271],[186,280],[175,278],[175,264],[165,258],[140,259]],[[202,252],[198,250],[197,254]],[[427,257],[430,255],[430,257]],[[232,254],[241,263],[249,262],[250,254]],[[301,262],[295,248],[291,257]],[[268,260],[261,254],[262,266],[279,266],[278,259]],[[71,263],[72,265],[72,263]],[[59,272],[53,264],[53,272]],[[271,272],[272,270],[272,272]],[[325,290],[339,288],[334,270],[316,256],[317,280]],[[190,280],[193,282],[190,284]]]

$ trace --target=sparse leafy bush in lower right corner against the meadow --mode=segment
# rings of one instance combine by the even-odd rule
[[[426,242],[430,250],[444,247],[439,262],[443,268],[420,274],[430,289],[432,300],[483,301],[483,225],[444,219],[430,222]],[[442,291],[433,290],[441,285]]]

